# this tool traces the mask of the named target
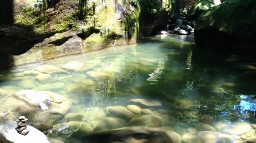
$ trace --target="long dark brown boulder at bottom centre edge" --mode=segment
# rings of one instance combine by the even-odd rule
[[[129,126],[85,135],[83,143],[181,143],[177,133],[159,127]]]

